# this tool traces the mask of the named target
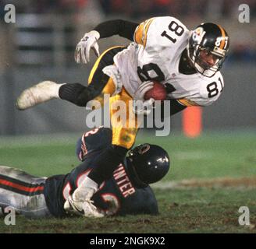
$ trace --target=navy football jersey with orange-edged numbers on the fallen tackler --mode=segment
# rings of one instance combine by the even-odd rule
[[[96,128],[84,135],[82,149],[84,162],[66,175],[48,177],[44,195],[53,216],[66,216],[63,209],[66,198],[73,194],[89,172],[97,167],[94,159],[111,146],[112,130]],[[84,144],[83,144],[84,143]],[[130,178],[126,159],[116,167],[113,176],[101,184],[93,196],[94,205],[107,215],[158,214],[158,204],[151,188],[135,188]]]

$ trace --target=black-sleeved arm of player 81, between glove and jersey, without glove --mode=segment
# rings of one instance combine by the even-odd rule
[[[125,37],[126,39],[133,40],[133,33],[138,25],[139,23],[116,19],[100,23],[94,28],[94,30],[100,33],[100,38],[119,35],[120,37]]]

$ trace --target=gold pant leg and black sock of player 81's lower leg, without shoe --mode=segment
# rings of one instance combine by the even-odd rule
[[[127,151],[135,142],[140,120],[133,113],[132,100],[132,97],[125,89],[110,98],[112,147],[105,150],[105,153],[100,156],[101,160],[98,160],[97,167],[88,174],[88,177],[98,184],[112,177],[112,172],[123,161]],[[125,109],[121,110],[120,108],[122,107]]]

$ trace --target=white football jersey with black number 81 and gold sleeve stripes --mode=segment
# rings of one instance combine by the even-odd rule
[[[189,37],[190,30],[172,16],[140,23],[134,42],[114,57],[126,91],[134,96],[141,82],[155,80],[165,84],[169,98],[185,106],[206,106],[217,100],[224,87],[220,72],[211,78],[179,72],[181,54]]]

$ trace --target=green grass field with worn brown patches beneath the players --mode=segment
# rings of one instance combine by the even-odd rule
[[[78,136],[0,137],[0,165],[36,176],[66,174],[78,163],[74,146]],[[0,218],[0,232],[256,233],[255,132],[206,132],[197,139],[143,133],[137,139],[142,142],[162,145],[171,159],[169,174],[152,185],[159,216],[37,220],[20,216],[16,226],[6,226]],[[186,186],[180,184],[184,180]],[[250,209],[251,226],[239,225],[240,206]]]

